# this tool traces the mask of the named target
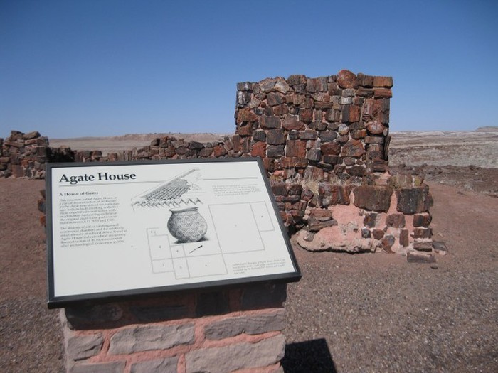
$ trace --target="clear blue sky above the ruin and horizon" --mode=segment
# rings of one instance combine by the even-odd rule
[[[394,78],[391,131],[498,126],[498,1],[0,0],[0,137],[233,133],[236,83]]]

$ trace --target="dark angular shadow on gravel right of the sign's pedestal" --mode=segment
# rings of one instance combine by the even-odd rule
[[[285,373],[337,373],[324,338],[285,345],[282,367]]]

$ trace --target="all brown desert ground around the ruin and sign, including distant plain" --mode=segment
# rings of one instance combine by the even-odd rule
[[[129,135],[125,148],[149,144],[147,136]],[[390,163],[426,176],[433,238],[448,254],[417,264],[294,246],[303,277],[287,287],[286,373],[498,372],[497,136],[393,134]],[[51,146],[123,146],[73,140]],[[0,372],[63,372],[58,310],[46,307],[43,188],[43,180],[0,180]]]

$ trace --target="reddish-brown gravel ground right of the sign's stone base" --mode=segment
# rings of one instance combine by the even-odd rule
[[[498,201],[430,188],[436,265],[295,247],[285,372],[498,372]]]

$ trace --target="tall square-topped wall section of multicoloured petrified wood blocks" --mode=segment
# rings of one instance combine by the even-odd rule
[[[387,166],[391,77],[291,75],[237,85],[236,134],[288,180],[361,183]],[[234,139],[235,142],[236,139]],[[332,175],[334,177],[332,177]]]

